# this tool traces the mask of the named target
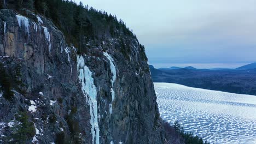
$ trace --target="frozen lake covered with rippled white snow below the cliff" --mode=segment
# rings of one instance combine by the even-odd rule
[[[154,83],[162,119],[211,143],[256,143],[256,96]]]

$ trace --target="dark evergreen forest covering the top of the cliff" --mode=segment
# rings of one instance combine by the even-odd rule
[[[88,5],[84,6],[82,2],[77,4],[62,0],[3,0],[0,7],[15,9],[25,15],[27,10],[31,10],[35,14],[48,17],[65,34],[67,43],[78,48],[78,53],[103,45],[102,41],[112,37],[121,39],[125,54],[130,52],[126,49],[129,42],[125,37],[137,39],[125,23],[117,19],[117,16],[89,8]],[[144,46],[140,46],[144,53]]]

